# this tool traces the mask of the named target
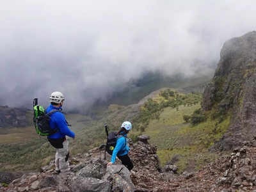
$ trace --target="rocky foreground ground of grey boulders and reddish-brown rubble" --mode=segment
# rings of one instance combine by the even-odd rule
[[[221,156],[197,172],[178,175],[175,164],[159,166],[157,148],[147,139],[143,136],[131,144],[132,172],[120,161],[107,167],[110,156],[104,160],[104,150],[94,148],[70,158],[69,173],[54,174],[53,162],[40,173],[18,174],[15,180],[10,179],[10,174],[3,177],[4,173],[0,173],[1,182],[10,182],[8,187],[3,184],[0,191],[256,191],[255,140],[244,141],[230,155]]]

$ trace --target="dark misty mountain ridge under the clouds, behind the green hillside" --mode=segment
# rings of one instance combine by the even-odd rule
[[[169,77],[164,76],[161,72],[145,72],[142,77],[131,80],[124,85],[124,88],[113,93],[108,99],[95,102],[92,108],[86,111],[86,114],[95,117],[100,111],[108,108],[110,104],[122,106],[136,104],[150,93],[161,88],[180,88],[186,92],[204,92],[205,85],[211,81],[213,74],[213,68],[191,77],[185,77],[181,74]]]

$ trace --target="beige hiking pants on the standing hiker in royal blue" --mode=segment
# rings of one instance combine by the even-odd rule
[[[63,142],[63,148],[57,148],[55,155],[55,170],[67,172],[70,170],[68,163],[68,141]]]

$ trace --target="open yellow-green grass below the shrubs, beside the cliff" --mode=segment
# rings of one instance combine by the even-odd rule
[[[161,99],[163,98],[159,97],[154,100]],[[209,148],[227,131],[230,116],[220,121],[208,114],[207,120],[200,124],[186,123],[183,116],[193,115],[196,109],[200,109],[199,103],[167,107],[160,113],[159,118],[150,119],[144,133],[150,136],[150,143],[157,145],[162,166],[173,157],[179,157],[175,164],[179,167],[179,172],[182,172],[201,168],[204,163],[213,161],[218,156],[209,152]]]

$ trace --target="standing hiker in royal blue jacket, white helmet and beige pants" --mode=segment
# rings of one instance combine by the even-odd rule
[[[61,92],[53,92],[49,97],[51,104],[46,109],[46,113],[51,112],[52,110],[62,110],[62,105],[65,100],[64,95]],[[47,136],[47,139],[51,143],[52,147],[56,148],[55,155],[55,171],[56,173],[67,172],[70,170],[68,163],[68,141],[66,136],[70,138],[75,138],[74,132],[72,132],[67,125],[65,116],[60,111],[52,113],[50,127],[51,129],[58,129],[58,131],[50,136]]]

